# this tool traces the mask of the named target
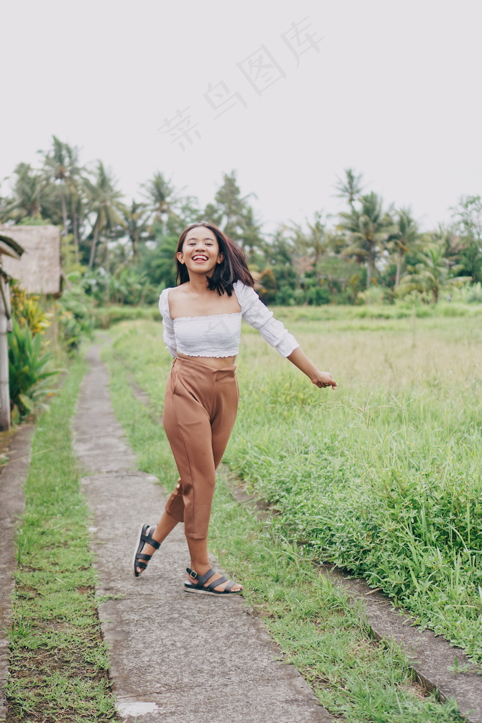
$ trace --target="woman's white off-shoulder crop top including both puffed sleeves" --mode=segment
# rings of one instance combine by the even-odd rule
[[[160,295],[159,310],[163,317],[165,345],[171,356],[177,356],[177,351],[186,356],[236,356],[242,319],[258,329],[264,341],[274,346],[281,356],[289,356],[300,346],[282,322],[273,318],[254,288],[241,281],[233,284],[241,307],[241,312],[235,314],[171,319],[169,291],[165,288]]]

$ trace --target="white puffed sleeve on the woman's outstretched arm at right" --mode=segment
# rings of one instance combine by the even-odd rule
[[[236,281],[233,289],[244,320],[254,329],[259,330],[264,341],[274,346],[281,356],[290,356],[291,352],[300,345],[288,332],[288,329],[285,329],[283,323],[273,317],[273,312],[270,312],[270,309],[259,299],[254,288],[245,286],[241,281]]]

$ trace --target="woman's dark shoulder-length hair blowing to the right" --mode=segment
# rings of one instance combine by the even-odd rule
[[[254,279],[249,273],[243,249],[238,247],[238,244],[235,244],[234,241],[231,241],[228,236],[223,234],[223,231],[220,231],[218,226],[215,226],[214,223],[209,223],[208,221],[191,223],[191,226],[185,228],[181,236],[179,236],[179,242],[176,249],[178,284],[189,281],[189,272],[186,269],[186,266],[181,264],[178,260],[177,254],[182,251],[184,240],[186,239],[187,234],[189,234],[189,231],[192,231],[193,228],[198,228],[199,226],[210,228],[218,241],[219,252],[220,254],[223,254],[223,261],[216,265],[215,270],[212,272],[212,276],[206,277],[207,288],[210,288],[211,291],[218,291],[220,296],[224,294],[224,292],[226,292],[228,296],[231,296],[233,293],[233,283],[236,281],[241,281],[246,286],[254,286]]]

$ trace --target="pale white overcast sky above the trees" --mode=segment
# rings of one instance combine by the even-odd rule
[[[265,231],[340,210],[348,166],[424,228],[482,193],[479,0],[17,0],[2,27],[1,178],[56,134],[128,201],[160,170],[204,205],[236,169]],[[212,103],[239,95],[214,110],[209,84]],[[161,132],[178,110],[197,124],[184,150]]]

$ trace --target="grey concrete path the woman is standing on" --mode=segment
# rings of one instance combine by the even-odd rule
[[[74,448],[95,518],[103,636],[117,706],[126,723],[314,723],[333,718],[240,597],[184,592],[189,561],[182,525],[139,579],[132,553],[140,523],[155,523],[165,496],[137,471],[108,393],[100,347],[74,417]],[[175,482],[175,480],[170,480]],[[215,563],[215,560],[212,560]],[[215,565],[216,569],[220,569]]]

